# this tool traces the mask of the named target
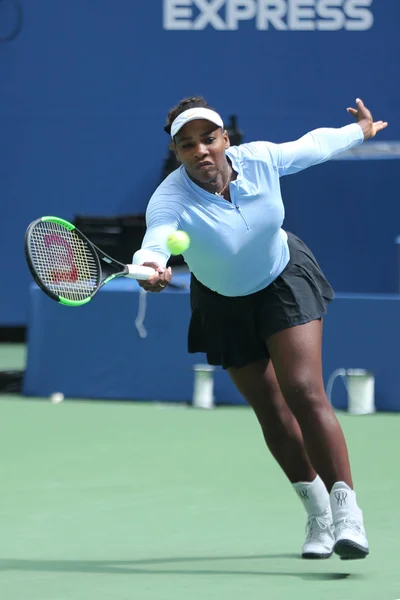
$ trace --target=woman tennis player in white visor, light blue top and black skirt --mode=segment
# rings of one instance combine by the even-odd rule
[[[279,179],[361,144],[387,127],[360,99],[356,122],[283,144],[230,147],[221,116],[201,97],[173,108],[165,131],[181,166],[156,189],[136,264],[160,292],[171,279],[166,239],[191,240],[189,352],[222,365],[258,418],[271,453],[307,511],[304,558],[364,558],[363,513],[342,429],[322,378],[322,319],[333,291],[302,240],[282,228]]]

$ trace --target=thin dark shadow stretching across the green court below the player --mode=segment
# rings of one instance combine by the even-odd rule
[[[0,571],[43,571],[43,572],[67,572],[67,573],[101,573],[101,574],[130,574],[130,575],[250,575],[261,577],[297,577],[306,581],[334,581],[350,577],[350,573],[318,573],[318,572],[298,572],[298,571],[268,571],[252,569],[236,569],[232,564],[231,568],[212,569],[212,568],[175,568],[176,563],[201,563],[218,561],[252,561],[252,560],[271,560],[271,559],[297,559],[309,567],[310,562],[306,563],[297,554],[262,554],[251,556],[193,556],[193,557],[171,557],[171,558],[150,558],[136,560],[28,560],[28,559],[1,559]],[[319,561],[318,561],[319,562]],[[163,565],[164,568],[154,568],[154,565]],[[170,568],[172,566],[172,568]],[[352,575],[352,578],[355,576]],[[360,577],[357,575],[357,577]]]

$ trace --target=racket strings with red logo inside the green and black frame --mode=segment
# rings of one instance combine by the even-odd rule
[[[96,290],[97,262],[73,230],[50,221],[39,223],[32,231],[30,254],[42,283],[57,295],[84,300]]]

